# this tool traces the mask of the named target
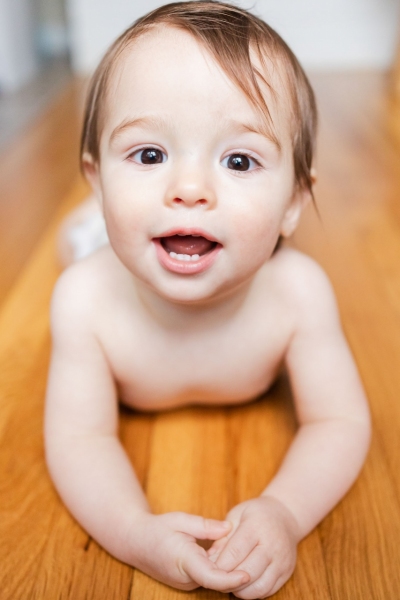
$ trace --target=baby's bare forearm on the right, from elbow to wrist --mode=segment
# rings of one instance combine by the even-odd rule
[[[368,420],[327,420],[300,427],[276,476],[262,495],[282,502],[295,517],[300,539],[339,502],[368,451]]]

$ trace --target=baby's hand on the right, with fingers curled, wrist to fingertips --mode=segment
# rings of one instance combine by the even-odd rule
[[[261,496],[235,506],[227,515],[233,528],[208,556],[223,571],[238,569],[250,581],[232,590],[237,598],[267,598],[289,579],[296,564],[298,527],[278,500]]]

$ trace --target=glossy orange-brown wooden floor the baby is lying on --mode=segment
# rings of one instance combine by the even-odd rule
[[[295,574],[275,597],[397,600],[400,146],[389,125],[384,75],[319,75],[313,82],[321,113],[321,219],[308,210],[295,243],[333,282],[374,435],[359,480],[300,544]],[[79,91],[66,90],[36,129],[0,158],[0,597],[226,598],[172,590],[112,559],[67,513],[46,471],[42,411],[48,303],[58,274],[55,231],[87,191],[74,154],[76,102]],[[245,407],[121,415],[122,439],[153,509],[216,518],[263,489],[294,431],[284,379]]]

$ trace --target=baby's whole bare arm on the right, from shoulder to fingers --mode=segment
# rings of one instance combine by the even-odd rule
[[[286,355],[299,430],[260,498],[230,511],[232,532],[209,551],[222,569],[250,574],[234,592],[239,598],[265,598],[285,583],[297,542],[344,496],[369,446],[367,402],[333,292],[319,267],[307,263],[299,265],[307,270]]]

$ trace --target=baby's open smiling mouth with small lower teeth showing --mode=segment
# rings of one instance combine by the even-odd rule
[[[200,273],[214,262],[221,244],[200,233],[172,234],[154,238],[161,265],[181,274]]]

